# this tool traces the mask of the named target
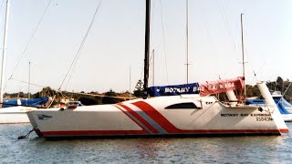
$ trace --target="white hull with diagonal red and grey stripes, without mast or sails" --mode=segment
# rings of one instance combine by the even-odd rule
[[[197,108],[167,108],[193,102]],[[258,107],[226,108],[212,97],[155,97],[116,105],[28,112],[44,138],[131,138],[280,135],[273,116]],[[283,121],[283,119],[282,119]]]

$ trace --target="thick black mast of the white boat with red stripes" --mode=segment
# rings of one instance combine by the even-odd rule
[[[151,0],[146,0],[146,22],[145,22],[145,58],[144,58],[144,91],[148,87],[149,78],[149,46],[150,46],[150,13]]]

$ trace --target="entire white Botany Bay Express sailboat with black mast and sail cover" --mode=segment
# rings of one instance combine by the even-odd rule
[[[226,105],[209,96],[242,89],[243,77],[194,83],[193,86],[148,88],[150,6],[151,1],[146,0],[144,89],[182,95],[140,98],[112,105],[32,109],[27,115],[39,137],[238,136],[288,132],[263,82],[257,86],[265,97],[265,107],[237,102]],[[190,92],[194,94],[183,94]]]

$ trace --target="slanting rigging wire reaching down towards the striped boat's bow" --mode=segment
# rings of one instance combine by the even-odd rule
[[[90,22],[90,24],[89,24],[89,28],[88,28],[88,30],[87,30],[85,36],[83,37],[82,42],[81,42],[81,44],[80,44],[80,46],[79,46],[79,48],[78,48],[78,52],[76,53],[76,55],[75,55],[75,57],[74,57],[74,59],[73,59],[71,65],[70,65],[70,67],[68,68],[68,72],[67,72],[66,76],[64,77],[64,79],[63,79],[63,81],[62,81],[60,87],[58,88],[58,90],[60,90],[61,87],[63,86],[65,80],[66,80],[67,77],[68,77],[68,74],[69,74],[71,68],[73,67],[73,69],[74,69],[74,67],[76,66],[76,63],[77,63],[77,61],[78,61],[78,58],[79,58],[79,56],[80,56],[80,54],[81,54],[81,50],[82,50],[82,48],[83,48],[83,46],[84,46],[84,44],[85,44],[85,42],[86,42],[86,40],[87,40],[87,38],[88,38],[88,36],[89,36],[89,31],[90,31],[90,29],[91,29],[91,27],[92,27],[92,25],[93,25],[93,23],[94,23],[94,19],[95,19],[96,15],[97,15],[97,13],[98,13],[98,11],[99,11],[99,7],[100,7],[100,5],[101,5],[101,1],[102,1],[102,0],[99,0],[99,4],[98,4],[98,6],[97,6],[97,8],[96,8],[96,10],[95,10],[95,13],[94,13],[92,19],[91,19],[91,22]],[[69,81],[69,80],[70,80],[70,78],[68,78],[68,81]]]

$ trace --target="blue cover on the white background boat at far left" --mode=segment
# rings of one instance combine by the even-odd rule
[[[2,108],[16,107],[19,105],[39,107],[48,101],[48,97],[42,98],[30,98],[30,99],[19,99],[21,104],[17,104],[17,99],[5,100],[2,104]]]

